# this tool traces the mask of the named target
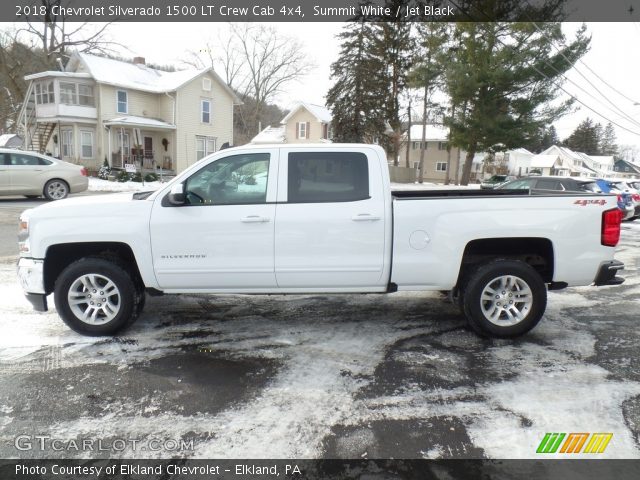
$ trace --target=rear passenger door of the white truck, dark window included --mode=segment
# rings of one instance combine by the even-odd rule
[[[362,149],[293,147],[283,148],[280,155],[278,287],[363,288],[385,283],[388,220],[377,157]]]

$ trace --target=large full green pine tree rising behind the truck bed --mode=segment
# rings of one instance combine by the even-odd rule
[[[476,3],[491,8],[504,2]],[[466,185],[476,152],[498,143],[527,144],[568,111],[571,101],[552,101],[562,74],[586,53],[590,39],[583,26],[565,43],[557,22],[457,23],[454,38],[446,90],[452,104],[464,106],[449,123],[453,144],[467,152],[461,179]],[[563,46],[558,52],[552,45]]]

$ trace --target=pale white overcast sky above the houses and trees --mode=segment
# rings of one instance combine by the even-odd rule
[[[277,103],[284,108],[298,100],[324,104],[324,96],[331,86],[329,68],[339,54],[336,34],[344,24],[307,22],[270,25],[283,35],[296,37],[303,42],[306,55],[316,65],[301,82],[289,84]],[[565,138],[580,121],[589,116],[603,124],[607,119],[618,123],[620,126],[616,127],[616,133],[619,144],[640,145],[640,105],[634,105],[640,103],[640,49],[637,48],[640,44],[640,24],[589,23],[587,26],[592,35],[591,50],[582,58],[584,63],[578,63],[577,68],[568,74],[575,84],[567,81],[564,88],[597,113],[580,107],[577,112],[556,123],[558,135],[561,139]],[[575,31],[578,27],[579,24],[565,24],[567,32]],[[112,27],[112,36],[130,48],[131,52],[123,52],[124,55],[140,55],[150,62],[174,64],[185,57],[186,51],[203,48],[208,38],[215,39],[219,31],[225,28],[226,25],[222,23],[122,23]],[[218,73],[222,72],[218,69]],[[598,79],[596,74],[610,86]]]

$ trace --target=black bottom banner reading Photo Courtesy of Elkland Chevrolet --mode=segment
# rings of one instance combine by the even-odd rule
[[[2,480],[637,480],[640,460],[0,460]]]

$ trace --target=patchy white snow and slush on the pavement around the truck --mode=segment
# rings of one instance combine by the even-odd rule
[[[358,451],[372,441],[371,423],[438,417],[461,419],[473,445],[489,458],[539,458],[535,448],[545,432],[590,431],[614,433],[602,457],[637,459],[640,451],[622,405],[640,395],[640,382],[599,364],[597,343],[600,332],[615,332],[610,314],[628,318],[640,310],[638,238],[640,224],[625,223],[617,254],[628,266],[624,289],[550,292],[545,318],[521,341],[479,340],[461,329],[463,321],[436,293],[402,292],[153,298],[138,323],[110,342],[71,332],[53,309],[34,313],[14,265],[0,264],[0,331],[11,332],[0,337],[0,362],[28,359],[46,346],[60,349],[57,368],[107,364],[126,371],[195,344],[229,358],[274,359],[280,365],[254,398],[218,413],[158,411],[161,392],[149,392],[153,401],[142,413],[140,398],[125,397],[102,415],[79,413],[39,431],[63,440],[140,438],[149,432],[181,438],[195,432],[207,434],[190,453],[195,458],[315,458],[337,425],[363,429],[351,439]],[[422,307],[416,310],[423,304],[424,317]],[[399,349],[411,340],[415,347]],[[389,361],[430,372],[444,385],[407,382],[381,389],[376,378]],[[474,373],[477,365],[483,370]],[[11,408],[0,405],[0,434],[17,421]],[[423,455],[442,458],[447,452],[448,446],[436,445],[425,447]]]

